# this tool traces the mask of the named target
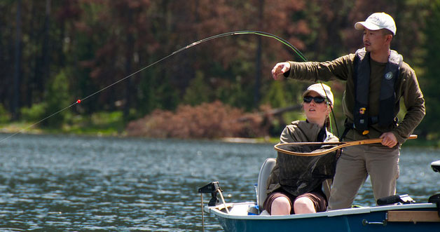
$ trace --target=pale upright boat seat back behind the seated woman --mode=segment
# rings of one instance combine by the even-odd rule
[[[270,172],[272,172],[273,167],[275,167],[275,164],[277,163],[276,158],[266,158],[266,161],[264,161],[263,165],[261,165],[260,172],[259,172],[259,178],[258,178],[258,185],[257,185],[257,204],[259,205],[260,212],[263,212],[263,203],[264,200],[266,200],[268,194],[266,193],[266,190],[268,189],[268,178],[270,175]]]

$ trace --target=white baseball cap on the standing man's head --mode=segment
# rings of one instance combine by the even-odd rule
[[[355,28],[362,30],[364,28],[376,31],[378,29],[388,29],[392,34],[396,34],[396,23],[392,19],[391,15],[387,13],[373,13],[364,22],[356,22]]]

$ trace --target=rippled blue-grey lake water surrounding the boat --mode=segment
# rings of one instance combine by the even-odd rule
[[[0,230],[202,231],[198,188],[219,181],[226,202],[255,200],[268,157],[273,144],[15,135],[0,142]],[[404,147],[398,193],[440,192],[436,160],[438,149]],[[370,186],[355,204],[373,205]],[[205,231],[222,231],[206,213]]]

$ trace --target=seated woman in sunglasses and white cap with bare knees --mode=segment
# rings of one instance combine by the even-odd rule
[[[303,110],[306,121],[294,121],[284,128],[280,144],[289,142],[338,142],[338,138],[327,131],[329,113],[334,104],[333,93],[329,86],[315,83],[303,93]],[[311,149],[311,148],[310,148]],[[306,151],[309,152],[309,151]],[[329,158],[293,156],[278,152],[277,163],[268,178],[268,197],[263,207],[271,215],[305,214],[326,211],[327,196],[336,166],[335,153]],[[317,174],[322,170],[331,170],[331,175]],[[325,171],[326,172],[326,171]],[[325,183],[323,183],[325,182]]]

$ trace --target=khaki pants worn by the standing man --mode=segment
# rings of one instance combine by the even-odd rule
[[[351,207],[357,191],[370,175],[375,201],[396,194],[399,149],[383,146],[348,146],[336,164],[328,210]]]

